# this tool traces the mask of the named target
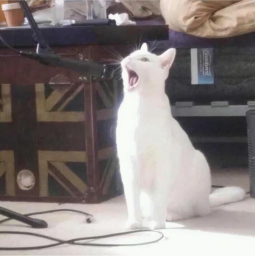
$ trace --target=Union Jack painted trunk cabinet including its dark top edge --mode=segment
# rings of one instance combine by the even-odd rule
[[[130,42],[168,38],[167,26],[42,32],[55,53],[99,63],[127,56]],[[17,49],[35,51],[30,29],[0,33]],[[0,48],[0,200],[98,203],[122,193],[115,147],[119,75],[90,82]]]

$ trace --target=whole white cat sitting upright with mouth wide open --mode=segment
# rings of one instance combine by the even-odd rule
[[[207,160],[171,115],[165,80],[175,53],[157,56],[144,43],[121,62],[124,99],[116,135],[128,229],[162,229],[166,220],[204,216],[212,206],[245,197],[239,187],[210,194]]]

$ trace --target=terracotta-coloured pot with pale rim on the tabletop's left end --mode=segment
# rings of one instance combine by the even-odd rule
[[[19,3],[2,4],[2,10],[8,27],[21,26],[24,19],[24,13]]]

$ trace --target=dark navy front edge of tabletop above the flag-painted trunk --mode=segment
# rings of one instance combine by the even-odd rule
[[[168,26],[137,24],[130,26],[42,27],[50,46],[74,44],[126,44],[151,40],[168,40]],[[2,28],[0,34],[13,47],[35,46],[30,27]],[[3,44],[0,42],[0,47]]]

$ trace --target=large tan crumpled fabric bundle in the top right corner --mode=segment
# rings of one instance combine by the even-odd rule
[[[226,38],[255,31],[255,1],[161,0],[169,28],[204,38]]]

